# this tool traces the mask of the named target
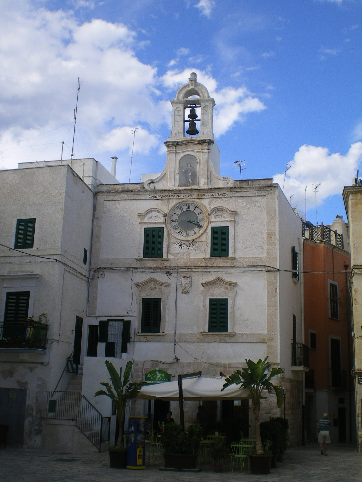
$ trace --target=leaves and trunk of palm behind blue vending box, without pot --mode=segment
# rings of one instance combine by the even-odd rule
[[[133,400],[139,394],[139,390],[141,389],[143,383],[137,382],[129,382],[129,377],[131,375],[133,362],[127,362],[125,365],[125,373],[123,375],[123,382],[122,382],[122,367],[119,369],[119,375],[117,370],[114,368],[112,362],[106,360],[106,367],[108,373],[110,374],[109,382],[100,382],[103,387],[106,387],[107,391],[105,390],[98,390],[94,396],[97,397],[98,395],[106,395],[114,400],[116,406],[116,413],[119,422],[119,436],[117,440],[117,448],[122,447],[123,441],[123,423],[125,421],[125,408],[127,405],[128,400]],[[114,390],[114,391],[113,391]],[[115,392],[115,393],[114,393]]]

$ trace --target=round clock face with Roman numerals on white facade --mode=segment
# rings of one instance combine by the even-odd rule
[[[207,214],[198,204],[183,202],[172,209],[169,225],[177,238],[193,238],[204,232]]]

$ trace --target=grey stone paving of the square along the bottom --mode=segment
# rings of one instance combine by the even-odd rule
[[[0,482],[344,482],[362,481],[362,455],[354,446],[330,445],[328,457],[320,455],[318,444],[289,448],[284,460],[269,475],[231,472],[224,464],[223,473],[213,466],[202,472],[162,472],[163,464],[145,470],[110,469],[108,452],[101,454],[54,454],[36,450],[7,448],[0,450]]]

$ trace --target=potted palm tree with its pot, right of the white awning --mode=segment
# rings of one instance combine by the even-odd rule
[[[262,398],[263,389],[274,390],[277,395],[278,407],[283,402],[283,389],[278,385],[273,385],[271,379],[283,372],[281,368],[272,368],[269,374],[268,357],[264,360],[259,359],[254,363],[251,360],[245,360],[246,367],[236,370],[233,374],[225,378],[222,391],[229,385],[240,385],[240,388],[248,388],[252,411],[255,417],[255,431],[256,431],[256,454],[250,455],[251,473],[253,474],[268,474],[270,473],[271,455],[265,455],[263,451],[262,439],[260,436],[260,402]]]

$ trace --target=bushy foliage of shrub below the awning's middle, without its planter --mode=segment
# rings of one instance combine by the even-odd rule
[[[181,425],[168,423],[165,425],[165,435],[162,440],[165,454],[195,455],[199,451],[201,437],[200,424],[192,424],[182,429]]]

